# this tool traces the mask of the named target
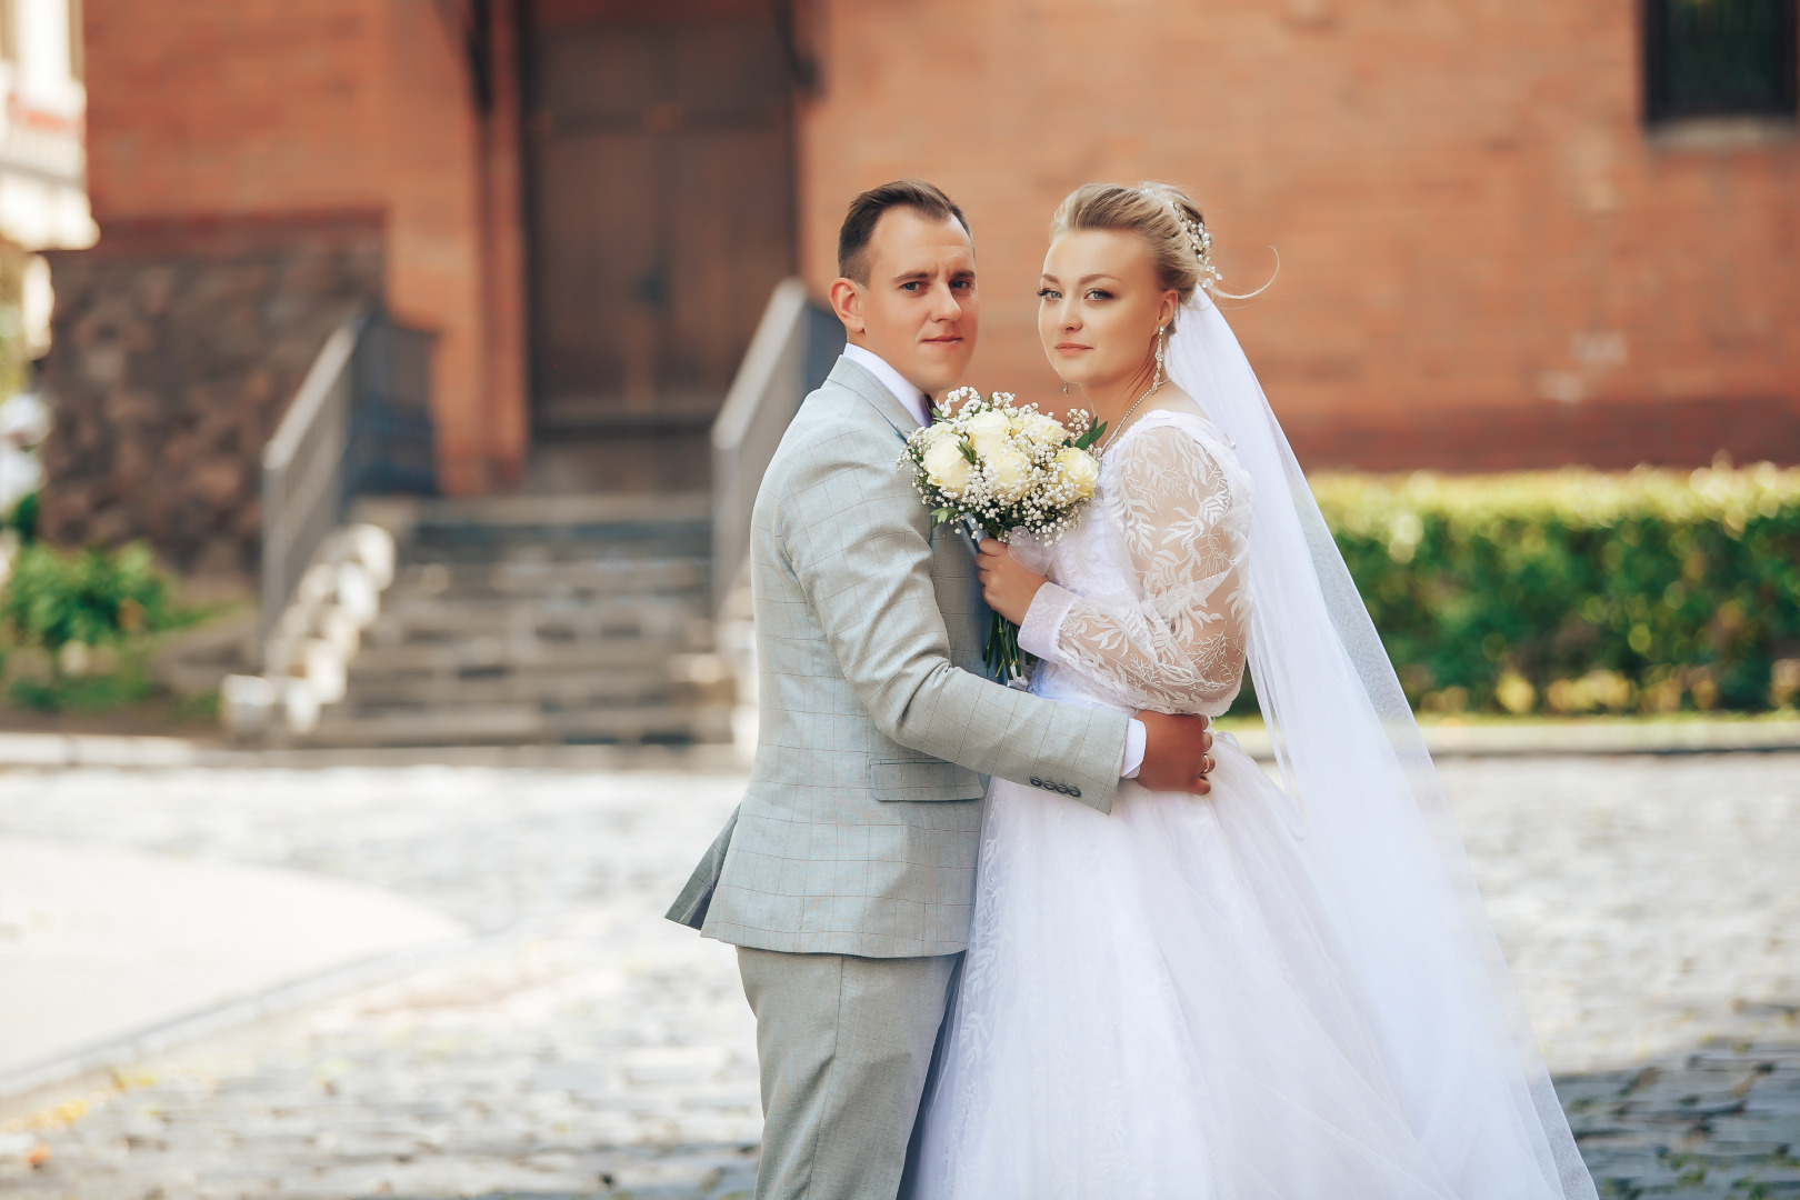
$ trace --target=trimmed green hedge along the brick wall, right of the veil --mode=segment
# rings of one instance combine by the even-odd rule
[[[1312,489],[1422,711],[1766,711],[1800,694],[1800,470]]]

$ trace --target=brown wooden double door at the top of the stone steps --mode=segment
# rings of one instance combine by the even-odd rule
[[[706,486],[707,426],[794,252],[794,81],[760,0],[536,0],[536,444],[563,488]]]

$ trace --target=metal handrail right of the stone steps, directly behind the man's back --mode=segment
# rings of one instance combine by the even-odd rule
[[[806,297],[799,279],[776,284],[713,421],[715,613],[749,561],[751,509],[763,471],[799,403],[824,381],[842,345],[844,327]]]

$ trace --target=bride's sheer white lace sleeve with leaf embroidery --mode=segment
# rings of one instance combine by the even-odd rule
[[[1114,453],[1111,502],[1141,599],[1091,599],[1046,585],[1021,644],[1048,648],[1040,657],[1105,680],[1139,709],[1217,716],[1244,678],[1247,511],[1233,513],[1226,471],[1174,423],[1138,430]]]

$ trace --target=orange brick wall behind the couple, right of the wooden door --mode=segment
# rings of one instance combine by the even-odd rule
[[[1634,428],[1687,428],[1715,401],[1733,430],[1764,423],[1733,443],[1800,461],[1800,142],[1654,144],[1634,13],[814,0],[805,273],[835,273],[855,191],[945,185],[976,225],[976,381],[1048,396],[1031,291],[1051,210],[1087,180],[1166,178],[1201,198],[1228,288],[1262,282],[1280,248],[1233,324],[1314,457],[1481,466],[1469,426],[1492,414],[1519,443],[1508,462],[1555,461],[1568,437],[1629,461]]]

